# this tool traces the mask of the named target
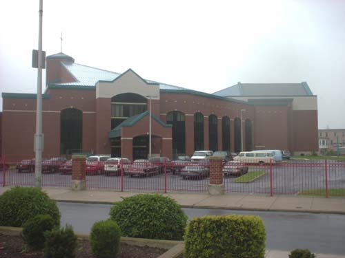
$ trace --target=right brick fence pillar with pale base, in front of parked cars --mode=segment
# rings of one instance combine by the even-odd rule
[[[208,185],[208,193],[210,195],[223,195],[223,161],[221,157],[210,157],[210,184]]]

